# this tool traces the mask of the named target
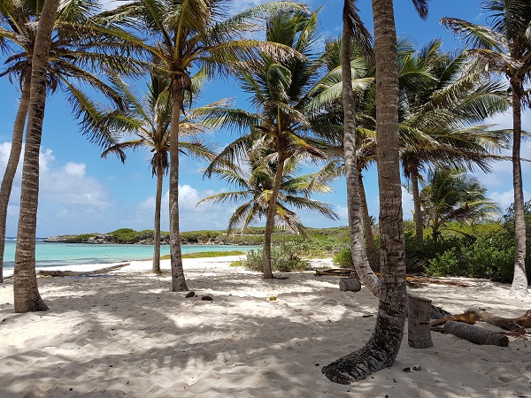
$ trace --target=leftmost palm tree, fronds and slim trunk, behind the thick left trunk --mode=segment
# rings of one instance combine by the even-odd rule
[[[19,80],[22,92],[19,110],[13,127],[12,149],[4,172],[2,187],[0,188],[0,282],[2,281],[4,264],[7,205],[22,148],[22,137],[31,88],[32,55],[37,33],[35,21],[39,18],[40,7],[42,7],[42,4],[34,0],[23,2],[9,0],[0,4],[0,41],[3,43],[0,46],[0,50],[8,56],[5,62],[7,67],[0,73],[0,77],[5,75],[9,75],[10,78],[15,77]],[[50,43],[50,56],[46,75],[47,88],[51,93],[57,88],[62,88],[73,103],[73,109],[78,116],[91,110],[87,108],[87,103],[85,103],[85,98],[81,91],[73,87],[72,79],[89,83],[97,91],[111,98],[114,103],[120,103],[119,96],[113,92],[112,88],[83,67],[89,63],[89,60],[99,63],[111,63],[115,70],[122,71],[127,68],[127,65],[131,64],[127,57],[117,54],[112,56],[106,54],[106,57],[102,57],[101,53],[98,54],[90,50],[91,48],[94,49],[94,44],[97,42],[97,39],[87,39],[90,34],[94,35],[90,30],[89,21],[91,20],[91,12],[95,9],[96,6],[93,0],[60,4],[58,19],[55,23],[56,32],[53,34]],[[100,44],[105,47],[103,42],[100,42]],[[99,50],[102,49],[100,48]],[[107,139],[108,137],[99,137],[100,143],[105,142]]]

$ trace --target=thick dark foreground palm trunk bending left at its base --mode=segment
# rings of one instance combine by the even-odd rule
[[[342,384],[365,379],[395,362],[404,336],[405,264],[402,192],[398,166],[398,76],[392,0],[373,0],[376,54],[376,131],[380,187],[380,304],[364,348],[323,368]]]

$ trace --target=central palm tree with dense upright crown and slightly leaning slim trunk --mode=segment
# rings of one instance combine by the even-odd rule
[[[282,60],[262,53],[254,62],[253,70],[240,71],[242,88],[250,93],[251,103],[258,112],[250,117],[251,131],[224,149],[206,170],[210,175],[219,162],[235,163],[255,142],[269,146],[273,153],[267,156],[275,177],[264,232],[264,279],[273,278],[271,270],[271,239],[275,206],[280,194],[284,166],[296,157],[325,157],[321,143],[309,134],[312,124],[304,115],[308,93],[316,79],[321,63],[312,57],[318,39],[317,12],[279,12],[267,22],[266,40],[291,48],[304,57],[293,55]],[[294,52],[295,52],[294,51]]]

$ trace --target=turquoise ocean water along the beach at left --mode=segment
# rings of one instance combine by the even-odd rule
[[[5,239],[4,268],[13,268],[16,240]],[[182,245],[182,253],[198,251],[249,251],[258,246]],[[160,255],[170,254],[169,245],[161,245]],[[153,258],[152,245],[93,245],[83,243],[51,243],[42,239],[35,242],[35,258],[38,267],[58,265],[119,263],[122,261],[148,260]]]

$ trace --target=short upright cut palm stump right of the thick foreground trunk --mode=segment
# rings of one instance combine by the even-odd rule
[[[407,309],[407,342],[412,348],[429,348],[434,343],[431,340],[429,321],[431,314],[431,300],[414,295],[408,295]]]

